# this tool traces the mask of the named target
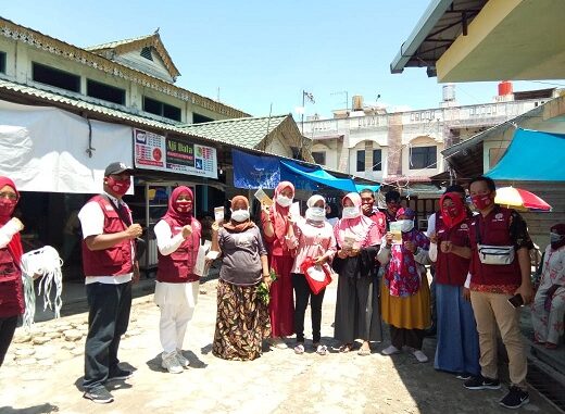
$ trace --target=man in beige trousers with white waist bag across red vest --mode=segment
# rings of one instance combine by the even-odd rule
[[[477,322],[480,374],[465,381],[473,390],[499,389],[497,334],[508,354],[511,386],[500,401],[517,409],[529,402],[526,387],[528,364],[519,330],[519,308],[508,303],[515,294],[524,304],[531,302],[529,250],[533,243],[526,222],[514,210],[494,203],[497,187],[488,177],[469,184],[473,204],[479,214],[470,219],[470,302]]]

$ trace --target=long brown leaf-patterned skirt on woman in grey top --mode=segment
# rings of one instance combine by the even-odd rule
[[[261,356],[262,341],[271,335],[268,309],[254,286],[219,279],[216,330],[212,353],[224,360],[251,361]]]

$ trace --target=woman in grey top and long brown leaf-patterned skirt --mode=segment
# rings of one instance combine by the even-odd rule
[[[258,293],[271,283],[267,251],[259,227],[249,218],[249,201],[231,199],[231,218],[212,226],[212,251],[222,252],[217,285],[216,329],[212,353],[224,360],[251,361],[271,334],[268,310]]]

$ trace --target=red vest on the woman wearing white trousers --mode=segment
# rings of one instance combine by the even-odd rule
[[[179,234],[183,226],[175,219],[166,217],[163,221],[171,227],[173,236]],[[190,222],[192,234],[168,255],[158,252],[159,263],[156,268],[158,281],[166,281],[168,284],[181,284],[186,281],[196,281],[200,276],[192,273],[192,268],[197,262],[198,249],[200,248],[200,235],[202,227],[198,219],[192,217]]]

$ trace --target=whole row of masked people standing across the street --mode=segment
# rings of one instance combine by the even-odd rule
[[[113,401],[108,381],[131,375],[118,366],[117,359],[129,319],[131,283],[139,278],[136,239],[142,233],[122,200],[130,175],[125,164],[110,164],[104,192],[78,213],[89,305],[84,397],[99,403]],[[494,203],[495,186],[490,178],[473,179],[468,190],[475,215],[466,204],[465,190],[450,187],[440,199],[440,210],[430,217],[429,238],[415,228],[415,212],[401,205],[397,191],[386,195],[382,212],[375,206],[373,191],[348,193],[340,217],[329,221],[328,213],[330,218],[337,218],[337,213],[319,195],[307,200],[303,217],[291,214],[294,187],[281,181],[273,203],[262,205],[258,224],[250,217],[249,200],[234,197],[229,219],[212,226],[211,250],[222,258],[213,354],[254,360],[261,356],[265,340],[273,348],[288,348],[286,339],[294,334],[293,352],[303,354],[309,303],[312,350],[327,354],[328,344],[321,335],[322,305],[325,286],[337,274],[334,337],[340,342],[339,352],[371,354],[371,342],[382,341],[385,322],[391,343],[382,354],[409,350],[418,362],[427,362],[423,340],[431,324],[431,306],[425,266],[435,263],[435,367],[464,379],[468,389],[500,388],[498,328],[512,382],[501,404],[527,403],[519,309],[507,300],[519,294],[527,304],[533,299],[529,260],[533,246],[522,216]],[[15,185],[0,177],[0,364],[23,311],[17,265],[23,226],[11,217],[17,200]],[[154,227],[159,250],[154,302],[161,313],[162,366],[173,374],[189,366],[183,344],[199,293],[194,265],[202,226],[193,216],[193,205],[188,187],[175,188],[166,214]],[[563,334],[564,268],[565,225],[560,224],[551,229],[532,304],[536,341],[549,349]],[[323,275],[315,280],[317,285],[314,273]]]

